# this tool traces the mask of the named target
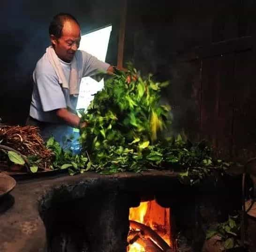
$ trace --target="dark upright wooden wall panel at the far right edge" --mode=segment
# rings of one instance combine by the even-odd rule
[[[236,55],[233,156],[241,162],[256,156],[255,72],[255,55],[252,52]]]

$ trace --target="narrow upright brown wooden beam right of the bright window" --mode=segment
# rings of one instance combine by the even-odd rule
[[[119,69],[123,69],[126,16],[127,16],[127,0],[122,0],[122,6],[120,11],[118,53],[117,53],[117,67]]]

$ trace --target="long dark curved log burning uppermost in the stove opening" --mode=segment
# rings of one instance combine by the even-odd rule
[[[150,227],[142,224],[142,223],[139,223],[139,222],[135,222],[135,221],[130,221],[130,227],[132,229],[138,229],[140,230],[142,236],[144,239],[148,239],[148,238],[151,238],[152,240],[154,240],[158,246],[159,246],[159,249],[161,248],[160,251],[163,251],[163,252],[173,252],[173,249],[166,243],[166,241],[160,237],[158,235],[157,232],[155,232],[154,230],[152,230]],[[136,240],[136,242],[138,242],[139,240],[141,240],[141,237],[138,238]],[[152,241],[151,241],[152,242]],[[139,242],[138,242],[139,243]],[[154,243],[155,244],[155,243]],[[155,244],[156,245],[156,244]],[[157,246],[157,245],[156,245]],[[147,251],[147,250],[146,250]],[[153,251],[152,251],[153,252]],[[157,250],[155,250],[155,252],[157,252]]]

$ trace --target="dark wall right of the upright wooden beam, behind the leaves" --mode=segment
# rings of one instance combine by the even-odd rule
[[[131,0],[125,59],[170,80],[173,132],[255,156],[255,0]]]

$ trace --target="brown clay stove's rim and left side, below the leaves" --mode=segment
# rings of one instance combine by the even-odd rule
[[[0,252],[45,252],[46,230],[40,214],[51,207],[56,194],[61,196],[65,192],[70,200],[76,200],[98,188],[112,193],[152,188],[169,191],[179,184],[177,176],[178,173],[169,171],[111,176],[87,172],[72,177],[61,175],[20,181],[11,194],[0,201]]]

